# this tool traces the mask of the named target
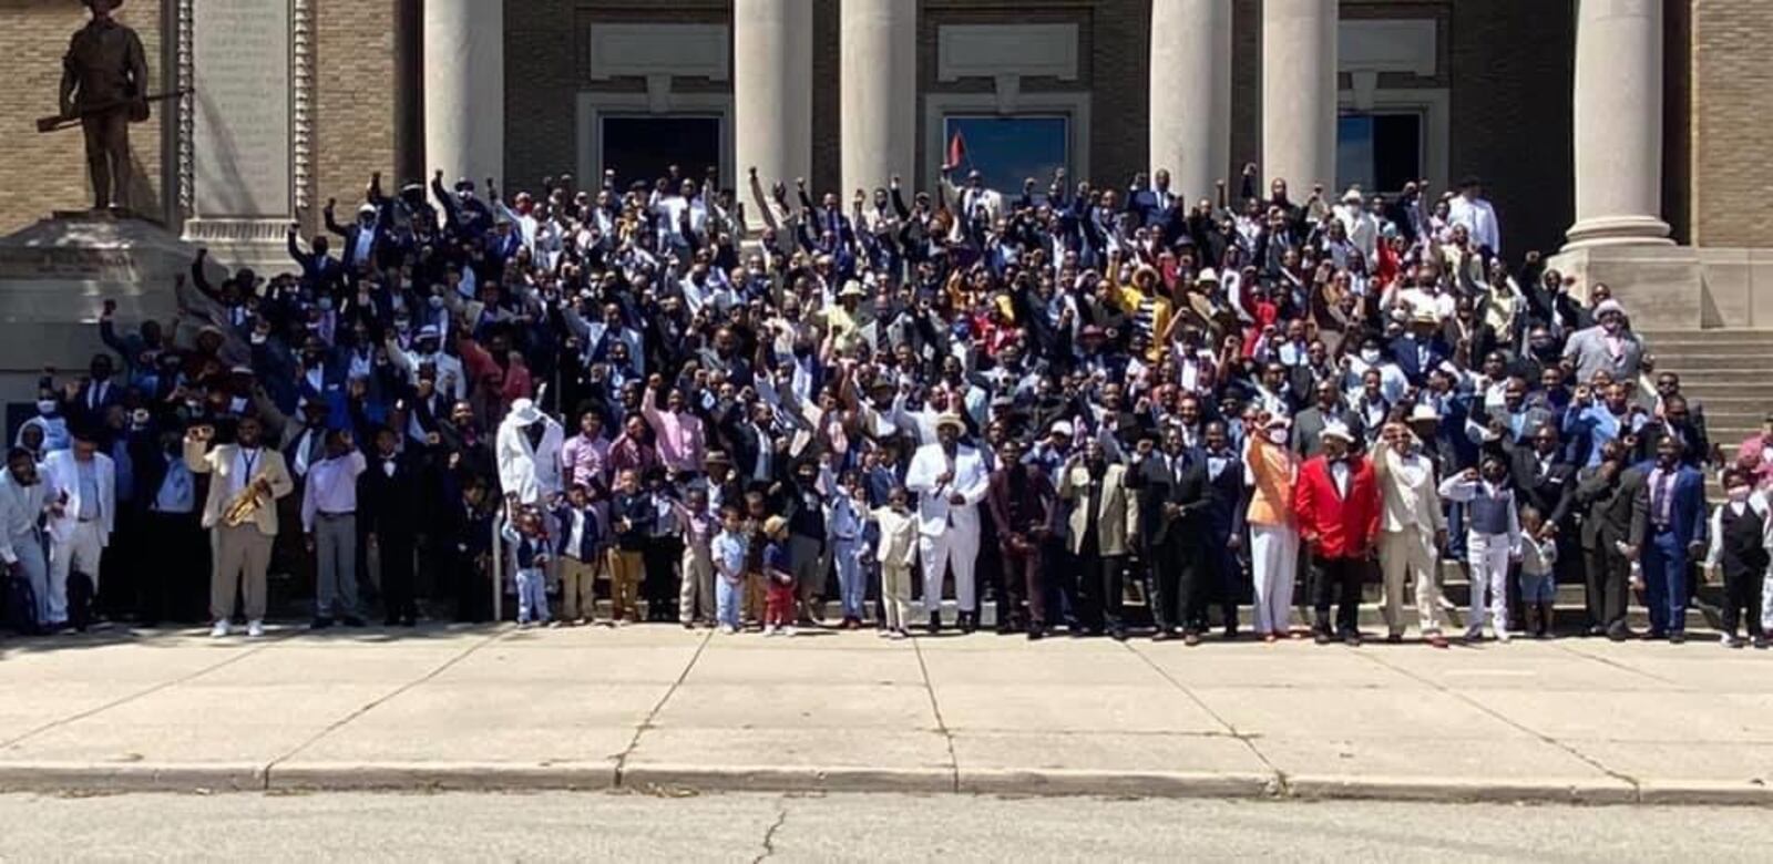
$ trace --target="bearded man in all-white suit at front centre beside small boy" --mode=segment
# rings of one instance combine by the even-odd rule
[[[954,600],[961,630],[979,627],[973,565],[979,559],[979,503],[989,473],[979,450],[961,444],[959,414],[936,420],[936,443],[917,448],[904,487],[917,492],[917,551],[924,563],[924,609],[929,632],[941,630],[941,575],[954,567]]]

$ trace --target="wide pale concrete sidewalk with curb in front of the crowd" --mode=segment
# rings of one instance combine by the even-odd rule
[[[677,627],[0,643],[0,791],[1773,804],[1773,653]]]

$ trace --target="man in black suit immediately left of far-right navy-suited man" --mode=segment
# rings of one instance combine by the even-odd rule
[[[1644,549],[1651,496],[1644,471],[1631,467],[1629,446],[1601,444],[1601,464],[1578,473],[1574,503],[1582,521],[1589,590],[1589,634],[1626,641],[1626,581]]]

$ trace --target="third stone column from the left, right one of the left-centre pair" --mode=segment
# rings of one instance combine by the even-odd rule
[[[895,174],[915,184],[917,2],[842,4],[842,195],[847,202],[856,189],[872,195]]]

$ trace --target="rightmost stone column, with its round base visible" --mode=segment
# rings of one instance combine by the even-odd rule
[[[1576,225],[1566,248],[1667,244],[1661,0],[1576,4]]]

